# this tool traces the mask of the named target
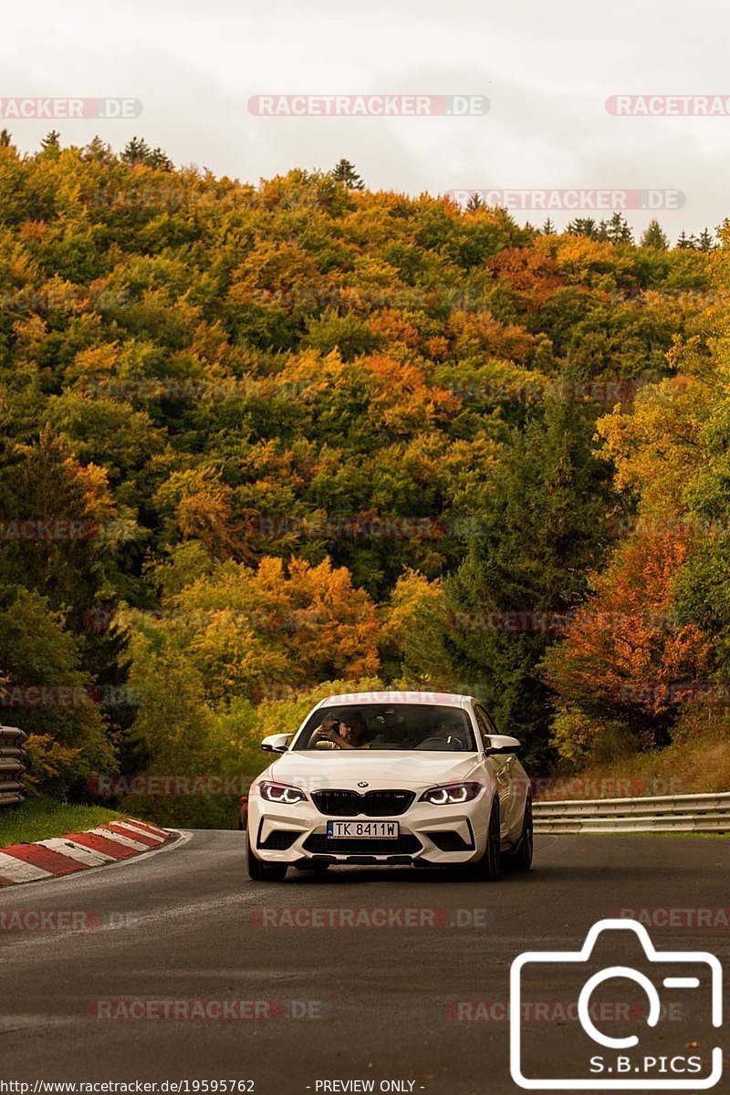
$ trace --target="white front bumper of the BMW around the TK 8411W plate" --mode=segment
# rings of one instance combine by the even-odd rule
[[[415,802],[394,817],[344,818],[321,814],[312,802],[286,806],[260,797],[248,803],[248,834],[267,863],[382,863],[422,866],[466,864],[484,855],[489,817],[483,791],[471,803],[433,806]],[[397,821],[395,840],[328,838],[327,821]],[[286,845],[286,846],[285,846]]]

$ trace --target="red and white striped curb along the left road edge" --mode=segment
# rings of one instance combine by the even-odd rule
[[[101,867],[161,848],[177,837],[147,821],[107,821],[86,832],[0,848],[0,886],[35,883]]]

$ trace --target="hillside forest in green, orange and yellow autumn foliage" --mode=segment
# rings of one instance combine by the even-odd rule
[[[730,229],[558,232],[346,161],[244,184],[53,132],[0,135],[0,217],[31,793],[251,777],[264,734],[379,687],[478,695],[535,773],[730,773]]]

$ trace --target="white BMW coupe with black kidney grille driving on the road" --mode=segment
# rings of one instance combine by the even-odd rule
[[[248,794],[246,855],[255,880],[290,866],[464,866],[497,878],[501,857],[532,863],[532,796],[520,742],[496,733],[467,695],[328,696]]]

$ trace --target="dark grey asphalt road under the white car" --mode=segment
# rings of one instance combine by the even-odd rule
[[[374,1081],[374,1091],[398,1081],[391,1090],[511,1093],[505,1004],[520,953],[578,949],[591,925],[619,908],[730,904],[725,839],[542,837],[533,871],[497,884],[346,867],[254,885],[240,833],[186,838],[120,865],[0,891],[0,1080],[253,1080],[258,1095],[360,1080]],[[395,923],[348,925],[363,909]],[[82,930],[28,930],[34,910],[82,912]],[[13,912],[26,930],[15,930]],[[293,915],[344,924],[265,926]],[[408,917],[415,926],[405,926]],[[651,934],[662,949],[730,958],[721,923]],[[614,960],[625,943],[618,935],[606,947]],[[530,999],[552,1002],[552,1011],[528,1019],[531,1069],[559,1075],[564,1064],[578,1067],[578,1025],[559,1007],[573,990],[577,982],[566,989],[549,973],[532,979]],[[629,996],[614,986],[605,999]],[[181,1017],[152,1017],[155,1006],[173,1006],[150,1003],[160,1000],[177,1001]],[[216,1002],[232,1000],[248,1002],[244,1014],[258,1018],[179,1011],[205,1006],[212,1015]],[[149,1017],[119,1017],[139,1008]],[[706,1056],[700,1013],[699,1005],[685,1013],[672,1038],[683,1047],[699,1039]]]

